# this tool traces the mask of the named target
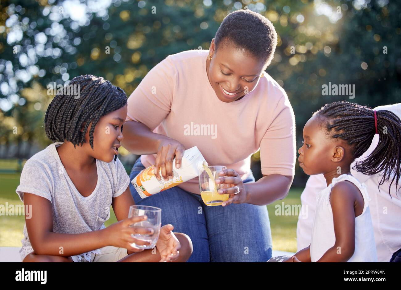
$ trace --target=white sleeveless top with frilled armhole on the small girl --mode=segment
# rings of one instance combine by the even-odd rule
[[[311,261],[316,262],[328,249],[334,246],[336,236],[334,234],[333,212],[330,205],[330,192],[336,183],[344,180],[348,180],[358,187],[365,203],[362,214],[355,218],[355,251],[348,262],[377,262],[368,191],[365,185],[362,185],[355,177],[345,173],[333,178],[332,183],[316,197],[316,211],[310,242]]]

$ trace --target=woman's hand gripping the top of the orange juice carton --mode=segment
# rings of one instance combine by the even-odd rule
[[[158,142],[158,149],[156,155],[156,161],[154,163],[154,175],[157,180],[160,180],[159,170],[162,169],[162,177],[164,180],[173,178],[173,166],[172,161],[174,155],[176,157],[175,166],[180,168],[182,155],[184,154],[185,147],[180,142],[171,139],[163,138]]]

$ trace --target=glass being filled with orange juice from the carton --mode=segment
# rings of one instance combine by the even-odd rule
[[[227,169],[225,166],[203,166],[199,169],[199,187],[203,202],[208,206],[221,205],[223,201],[229,199],[229,194],[219,194],[219,189],[229,188],[227,183],[216,184],[215,180],[219,177],[219,172]]]

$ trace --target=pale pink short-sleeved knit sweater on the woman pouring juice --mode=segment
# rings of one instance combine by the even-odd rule
[[[128,98],[127,120],[153,132],[197,146],[209,165],[232,168],[245,180],[251,155],[260,148],[264,175],[295,173],[295,118],[286,92],[266,72],[242,99],[220,101],[209,83],[209,50],[167,56]],[[145,167],[156,155],[142,155]],[[178,185],[200,193],[198,178]]]

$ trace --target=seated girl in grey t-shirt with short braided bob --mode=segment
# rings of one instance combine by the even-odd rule
[[[47,137],[55,143],[26,161],[16,193],[25,205],[24,262],[186,261],[190,238],[160,230],[154,250],[131,234],[152,229],[130,227],[146,217],[128,218],[134,200],[130,179],[117,159],[127,115],[122,89],[93,75],[75,77],[57,92],[45,115]],[[105,227],[110,205],[118,220]],[[152,253],[153,252],[153,253]]]

